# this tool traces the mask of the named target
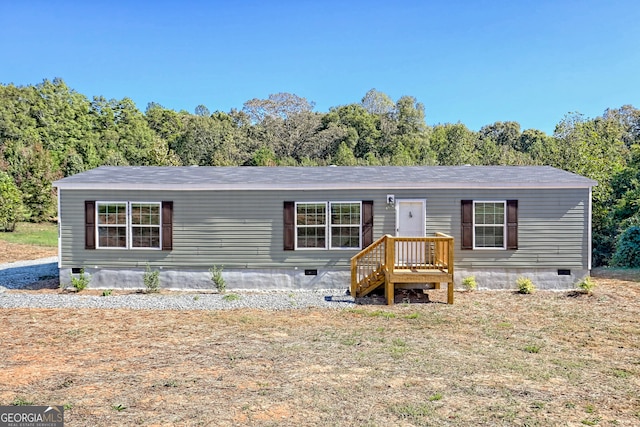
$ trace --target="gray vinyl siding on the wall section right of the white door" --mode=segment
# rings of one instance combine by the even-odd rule
[[[461,250],[461,200],[518,200],[518,249]],[[428,232],[449,230],[459,268],[586,269],[589,190],[454,190],[427,199]]]

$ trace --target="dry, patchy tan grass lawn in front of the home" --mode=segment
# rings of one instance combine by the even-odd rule
[[[68,426],[639,425],[622,279],[453,306],[0,310],[0,404],[65,404]]]

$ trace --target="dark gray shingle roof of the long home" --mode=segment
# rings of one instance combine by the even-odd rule
[[[549,166],[102,166],[54,182],[60,189],[123,190],[589,188],[595,185],[596,181]]]

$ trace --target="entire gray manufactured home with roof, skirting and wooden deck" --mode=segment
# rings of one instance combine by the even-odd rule
[[[216,266],[237,290],[569,289],[591,269],[595,185],[547,166],[104,166],[54,183],[60,278],[142,287],[148,266],[198,289]]]

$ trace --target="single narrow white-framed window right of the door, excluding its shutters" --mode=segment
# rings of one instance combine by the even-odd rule
[[[474,248],[504,248],[505,202],[473,203]]]

